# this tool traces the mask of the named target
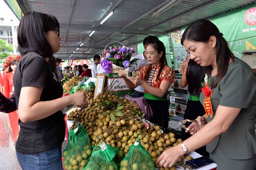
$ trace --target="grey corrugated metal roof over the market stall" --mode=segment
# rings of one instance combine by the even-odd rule
[[[24,13],[38,11],[57,17],[61,24],[62,59],[91,58],[101,54],[114,41],[126,46],[141,42],[148,35],[168,31],[198,19],[208,19],[250,4],[255,0],[17,0]],[[161,15],[160,8],[172,6]],[[102,25],[102,19],[114,14]],[[91,31],[95,33],[89,38]],[[83,46],[80,47],[82,42]],[[78,49],[74,54],[73,52]],[[70,56],[72,57],[70,58]]]

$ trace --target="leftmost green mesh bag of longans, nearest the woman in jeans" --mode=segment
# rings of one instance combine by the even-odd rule
[[[69,131],[68,144],[63,152],[65,170],[82,170],[89,162],[92,147],[89,136],[82,125]]]

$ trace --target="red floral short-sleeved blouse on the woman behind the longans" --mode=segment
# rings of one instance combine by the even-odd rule
[[[142,80],[144,80],[144,77],[145,77],[145,73],[146,73],[146,70],[148,67],[152,67],[151,69],[151,77],[152,77],[152,80],[148,81],[148,84],[153,86],[153,87],[157,87],[159,88],[160,85],[161,85],[161,82],[163,80],[165,81],[174,81],[174,70],[169,67],[169,66],[165,66],[160,74],[160,77],[159,77],[159,80],[156,81],[156,77],[158,75],[158,71],[160,69],[160,64],[158,64],[157,66],[153,67],[151,64],[148,64],[148,65],[144,65],[144,66],[141,66],[137,72],[136,72],[136,76],[137,77],[140,77]],[[153,73],[152,70],[155,69],[155,72]],[[146,93],[148,93],[146,90],[145,90]]]

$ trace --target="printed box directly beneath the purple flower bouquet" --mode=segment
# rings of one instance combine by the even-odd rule
[[[134,94],[134,90],[126,87],[126,84],[122,78],[119,78],[118,73],[105,73],[107,85],[110,89],[113,89],[115,95],[123,97],[126,94]]]

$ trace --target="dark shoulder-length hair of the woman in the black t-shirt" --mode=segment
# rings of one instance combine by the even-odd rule
[[[53,50],[44,33],[59,29],[60,24],[55,16],[41,12],[28,12],[20,20],[18,44],[20,54],[35,52],[43,58],[53,58]]]

